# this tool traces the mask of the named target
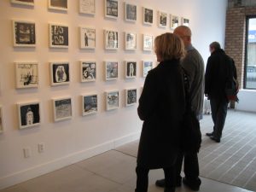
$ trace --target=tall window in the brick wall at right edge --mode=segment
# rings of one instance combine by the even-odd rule
[[[256,90],[256,16],[247,17],[244,88]]]

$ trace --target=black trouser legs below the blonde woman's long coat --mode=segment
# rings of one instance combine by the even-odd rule
[[[163,168],[165,172],[166,178],[166,188],[175,188],[175,171],[174,167]],[[137,173],[137,184],[136,184],[136,192],[147,192],[148,191],[148,172],[149,169],[137,166],[136,173]]]

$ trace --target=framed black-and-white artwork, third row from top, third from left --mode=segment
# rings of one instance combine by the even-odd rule
[[[80,61],[81,82],[96,81],[96,61]]]

